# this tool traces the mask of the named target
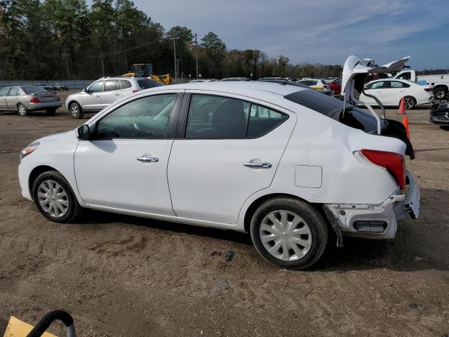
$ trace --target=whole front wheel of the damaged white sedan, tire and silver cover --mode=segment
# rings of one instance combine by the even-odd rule
[[[34,180],[32,194],[43,216],[57,223],[68,223],[81,211],[72,188],[58,171],[41,173]]]

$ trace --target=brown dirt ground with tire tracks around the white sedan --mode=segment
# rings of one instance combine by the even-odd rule
[[[64,108],[1,113],[0,336],[11,315],[35,324],[56,308],[72,313],[79,336],[449,333],[449,131],[427,121],[428,108],[408,117],[420,219],[403,221],[394,240],[344,239],[295,272],[269,265],[244,234],[94,211],[51,223],[21,197],[18,152],[86,119]]]

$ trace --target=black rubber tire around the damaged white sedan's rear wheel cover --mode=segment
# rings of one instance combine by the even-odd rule
[[[297,230],[307,230],[309,234],[302,234],[300,235],[300,238],[308,241],[310,245],[309,248],[307,248],[306,246],[302,247],[302,253],[304,253],[302,257],[298,258],[299,254],[296,253],[296,251],[293,251],[293,246],[291,246],[291,244],[287,244],[286,247],[288,248],[288,253],[286,254],[291,253],[291,257],[293,258],[293,260],[283,260],[282,258],[277,258],[272,253],[269,253],[265,246],[271,243],[262,243],[262,233],[268,233],[263,230],[263,228],[267,225],[267,223],[265,222],[263,223],[264,227],[262,227],[261,230],[262,221],[266,221],[266,217],[268,216],[276,216],[276,211],[286,211],[286,214],[288,214],[288,216],[292,216],[291,214],[294,213],[296,216],[299,216],[301,218],[302,222],[299,223],[300,227],[293,227],[293,229],[296,228]],[[274,223],[273,227],[275,227]],[[279,267],[295,270],[306,269],[308,267],[311,267],[311,265],[314,265],[319,260],[319,258],[321,258],[324,250],[326,249],[326,245],[328,244],[328,227],[326,225],[326,220],[323,218],[321,213],[317,209],[315,209],[314,206],[311,206],[304,201],[289,197],[276,197],[264,201],[264,203],[261,204],[253,214],[253,218],[250,224],[250,234],[251,239],[253,239],[255,249],[257,249],[257,252],[260,253],[260,255],[265,260],[273,263],[274,265],[278,265]],[[311,238],[309,238],[309,235],[311,236]],[[282,234],[279,234],[279,237],[276,239],[281,239],[282,243],[279,249],[282,249],[282,257],[284,247],[283,242],[284,240],[289,240],[292,236],[295,235],[293,235],[292,232],[286,230],[286,232],[282,232]],[[296,234],[296,237],[298,237],[298,234]],[[279,244],[279,240],[276,243],[274,242],[272,242],[272,248]],[[298,249],[298,246],[296,246],[296,249]]]

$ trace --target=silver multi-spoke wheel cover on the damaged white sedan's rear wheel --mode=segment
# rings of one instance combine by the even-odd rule
[[[279,260],[300,260],[312,245],[309,225],[290,211],[269,213],[260,224],[259,234],[264,248]]]

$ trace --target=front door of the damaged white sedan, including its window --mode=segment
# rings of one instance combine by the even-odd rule
[[[96,121],[93,139],[80,140],[74,156],[83,201],[174,215],[167,182],[174,131],[167,135],[176,100],[173,91],[138,96]]]

